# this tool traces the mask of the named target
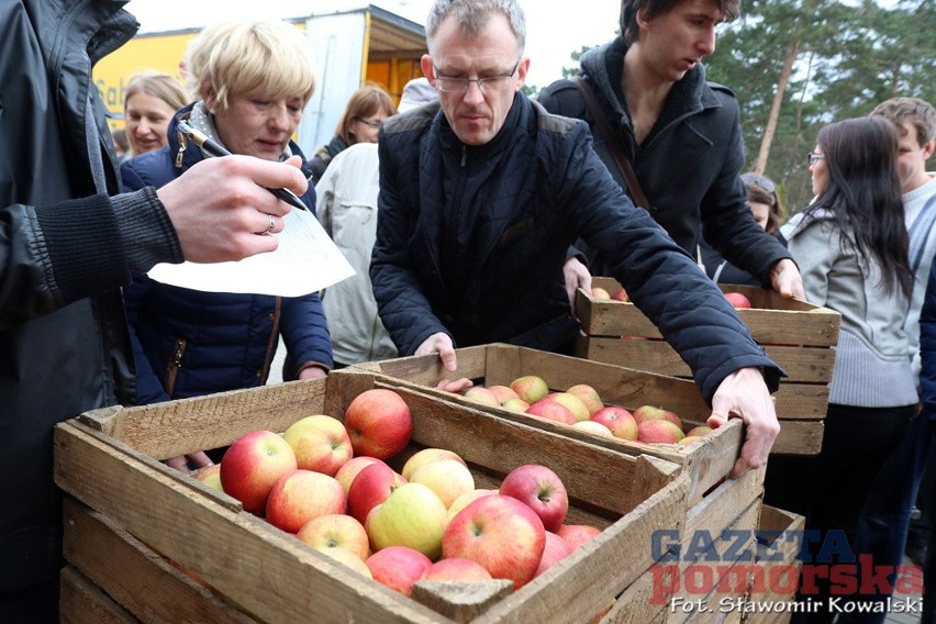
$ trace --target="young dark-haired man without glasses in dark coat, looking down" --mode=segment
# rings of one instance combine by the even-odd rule
[[[740,0],[622,0],[622,34],[582,55],[580,76],[614,136],[602,132],[570,80],[554,82],[537,101],[587,121],[595,152],[628,190],[614,151],[626,158],[649,203],[642,208],[683,249],[695,255],[704,235],[764,286],[802,299],[789,252],[757,226],[745,204],[737,100],[726,87],[705,81],[701,63],[715,51],[716,25],[739,12]],[[588,245],[581,249],[591,274],[606,275],[601,254]]]

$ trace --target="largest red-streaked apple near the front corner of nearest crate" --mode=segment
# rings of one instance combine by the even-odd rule
[[[526,584],[536,572],[546,530],[532,509],[519,500],[492,494],[455,514],[442,541],[442,555],[472,559],[495,579]]]

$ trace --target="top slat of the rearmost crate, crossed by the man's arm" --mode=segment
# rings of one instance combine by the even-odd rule
[[[597,277],[593,286],[614,292],[620,285],[611,278]],[[718,285],[723,291],[743,292],[754,308],[738,310],[738,315],[761,344],[834,346],[838,342],[840,314],[821,308],[783,299],[772,290],[751,286]],[[804,313],[809,313],[804,322]],[[576,314],[582,331],[590,336],[646,336],[662,337],[649,319],[636,305],[620,301],[592,299],[579,289],[576,296]]]

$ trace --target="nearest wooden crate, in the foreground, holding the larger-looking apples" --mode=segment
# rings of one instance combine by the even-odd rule
[[[686,471],[654,456],[616,453],[394,388],[414,422],[399,463],[419,448],[449,448],[468,461],[478,487],[495,486],[521,464],[543,464],[570,493],[568,522],[603,528],[516,592],[504,593],[500,581],[467,602],[427,590],[425,603],[357,575],[159,461],[257,428],[283,431],[313,413],[342,417],[354,397],[374,387],[387,386],[358,370],[109,408],[59,424],[55,476],[68,495],[63,620],[584,622],[616,597],[615,613],[643,621],[645,594],[629,588],[654,562],[653,533],[684,525],[689,492]]]

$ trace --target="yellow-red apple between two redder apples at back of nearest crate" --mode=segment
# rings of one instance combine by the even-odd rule
[[[282,434],[303,470],[334,477],[354,455],[345,425],[338,419],[315,414],[292,423]]]

